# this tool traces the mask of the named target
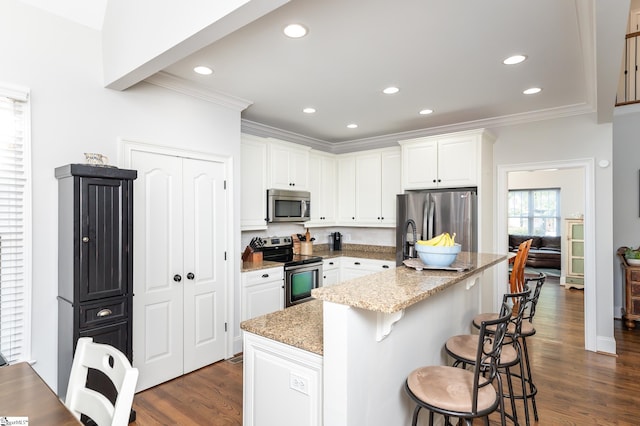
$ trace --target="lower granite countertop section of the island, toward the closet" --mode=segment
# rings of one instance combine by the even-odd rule
[[[322,355],[322,302],[311,300],[282,311],[243,321],[240,328]]]

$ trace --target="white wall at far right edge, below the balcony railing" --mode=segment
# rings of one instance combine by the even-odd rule
[[[640,245],[640,107],[616,109],[613,124],[613,248]],[[614,315],[621,316],[623,277],[613,253]]]

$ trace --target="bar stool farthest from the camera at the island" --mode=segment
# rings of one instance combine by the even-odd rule
[[[531,291],[529,295],[529,299],[527,300],[527,306],[524,314],[522,315],[522,324],[520,329],[519,340],[521,341],[522,353],[523,353],[523,361],[525,368],[524,378],[519,377],[520,375],[514,374],[514,377],[519,378],[522,382],[526,383],[529,387],[528,391],[523,393],[523,395],[513,395],[512,399],[522,399],[524,400],[524,411],[525,411],[525,420],[526,424],[529,425],[529,405],[528,401],[531,400],[531,407],[533,409],[533,416],[535,421],[538,421],[538,408],[536,406],[536,394],[538,393],[538,388],[533,382],[533,375],[531,374],[531,362],[529,361],[529,350],[527,348],[527,337],[531,337],[536,334],[536,329],[533,326],[533,318],[536,314],[536,306],[538,305],[538,301],[540,299],[540,292],[542,291],[542,286],[546,280],[547,276],[540,272],[535,277],[530,277],[525,279],[525,286],[531,286],[531,283],[535,282],[535,287]],[[491,320],[497,318],[498,314],[496,313],[484,313],[479,314],[473,319],[473,325],[476,328],[480,328],[483,322],[487,320]]]

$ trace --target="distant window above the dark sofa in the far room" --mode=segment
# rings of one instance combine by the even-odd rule
[[[560,189],[509,191],[510,235],[560,235]]]

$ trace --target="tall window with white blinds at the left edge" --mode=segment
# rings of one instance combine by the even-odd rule
[[[0,86],[0,352],[30,354],[29,92]]]

